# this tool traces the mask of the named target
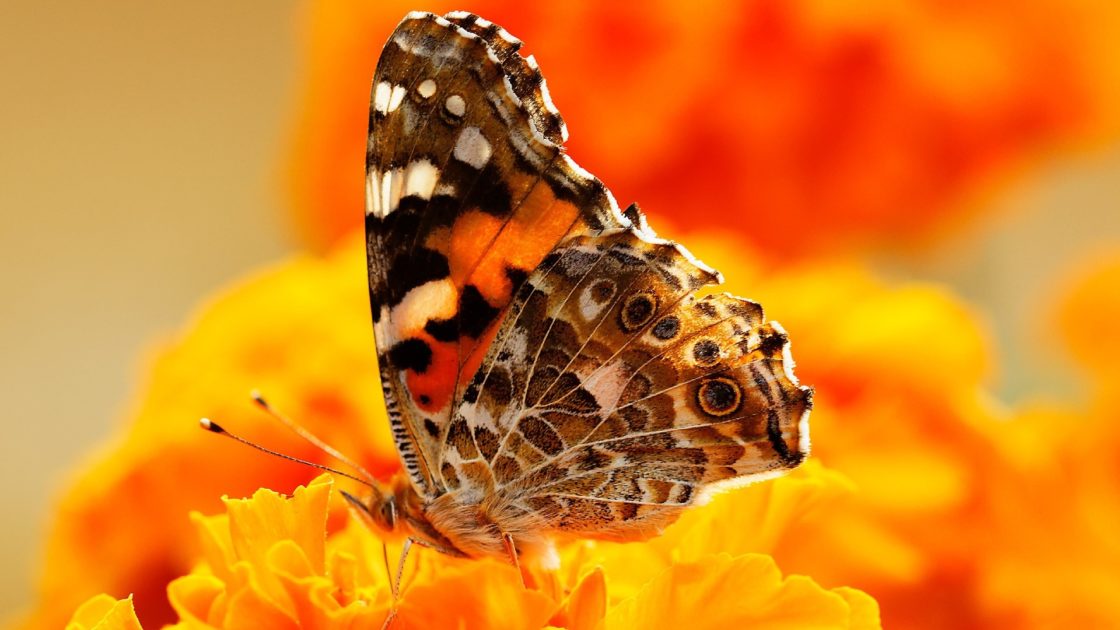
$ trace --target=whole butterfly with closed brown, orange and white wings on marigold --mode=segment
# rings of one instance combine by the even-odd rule
[[[564,152],[520,40],[409,13],[373,77],[370,302],[403,473],[352,499],[465,557],[655,536],[809,453],[786,333]]]

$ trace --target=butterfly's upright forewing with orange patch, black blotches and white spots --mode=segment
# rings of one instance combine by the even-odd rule
[[[366,257],[382,387],[401,460],[427,498],[452,410],[502,315],[560,242],[629,224],[562,151],[532,58],[497,26],[410,13],[373,78]]]

